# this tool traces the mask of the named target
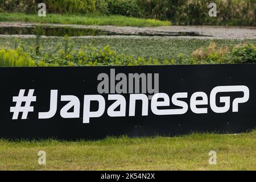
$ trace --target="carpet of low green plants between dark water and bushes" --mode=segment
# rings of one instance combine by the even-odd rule
[[[134,57],[155,57],[156,59],[163,60],[164,58],[171,59],[177,58],[182,54],[185,57],[191,56],[191,53],[200,47],[207,47],[209,43],[216,42],[218,46],[232,47],[236,44],[245,42],[256,43],[254,40],[210,40],[210,39],[172,39],[172,38],[76,38],[74,40],[75,48],[88,45],[98,48],[103,48],[106,45],[110,45],[112,49],[118,53],[125,53]],[[31,46],[34,39],[19,39],[20,43]],[[48,38],[42,39],[43,52],[49,53],[55,50],[57,44],[63,42],[63,38]],[[14,48],[14,38],[0,38],[0,47]]]

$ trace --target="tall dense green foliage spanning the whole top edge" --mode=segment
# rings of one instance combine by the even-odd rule
[[[35,0],[0,0],[2,13],[37,14]],[[170,20],[175,24],[255,26],[256,0],[215,0],[217,17],[208,15],[208,0],[43,0],[48,13],[118,14]],[[0,18],[1,19],[1,18]]]

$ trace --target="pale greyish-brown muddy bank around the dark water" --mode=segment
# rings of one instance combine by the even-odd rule
[[[1,22],[0,27],[34,27],[39,23],[20,23],[20,22]],[[163,27],[115,27],[115,26],[82,26],[75,24],[49,24],[41,23],[42,26],[49,27],[71,27],[71,28],[96,28],[97,30],[113,32],[121,35],[110,36],[97,36],[105,38],[158,38],[151,37],[151,35],[167,34],[168,38],[181,38],[181,39],[256,39],[255,27],[223,27],[223,26],[163,26]],[[178,32],[196,32],[203,36],[171,36]],[[127,36],[125,34],[130,34]],[[139,36],[144,34],[148,36]],[[170,35],[169,35],[170,34]],[[10,36],[10,35],[0,35]],[[11,35],[20,38],[30,38],[33,35]],[[52,36],[51,36],[52,37]],[[92,38],[92,36],[79,36],[79,38]]]

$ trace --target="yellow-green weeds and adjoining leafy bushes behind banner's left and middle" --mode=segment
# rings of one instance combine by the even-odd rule
[[[22,48],[1,49],[0,67],[47,67],[47,66],[83,66],[83,65],[158,65],[163,64],[153,57],[139,56],[134,58],[130,55],[117,53],[110,46],[96,48],[92,45],[74,49],[73,41],[66,36],[62,47],[53,50],[55,53],[38,55],[32,48],[27,48],[29,53]],[[15,40],[16,41],[16,40]],[[169,63],[170,64],[170,63]]]

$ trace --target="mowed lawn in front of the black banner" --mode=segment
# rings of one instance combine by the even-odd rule
[[[217,164],[209,165],[209,151]],[[38,152],[46,152],[46,165]],[[106,138],[97,141],[0,140],[0,170],[256,170],[256,130],[238,135]]]

